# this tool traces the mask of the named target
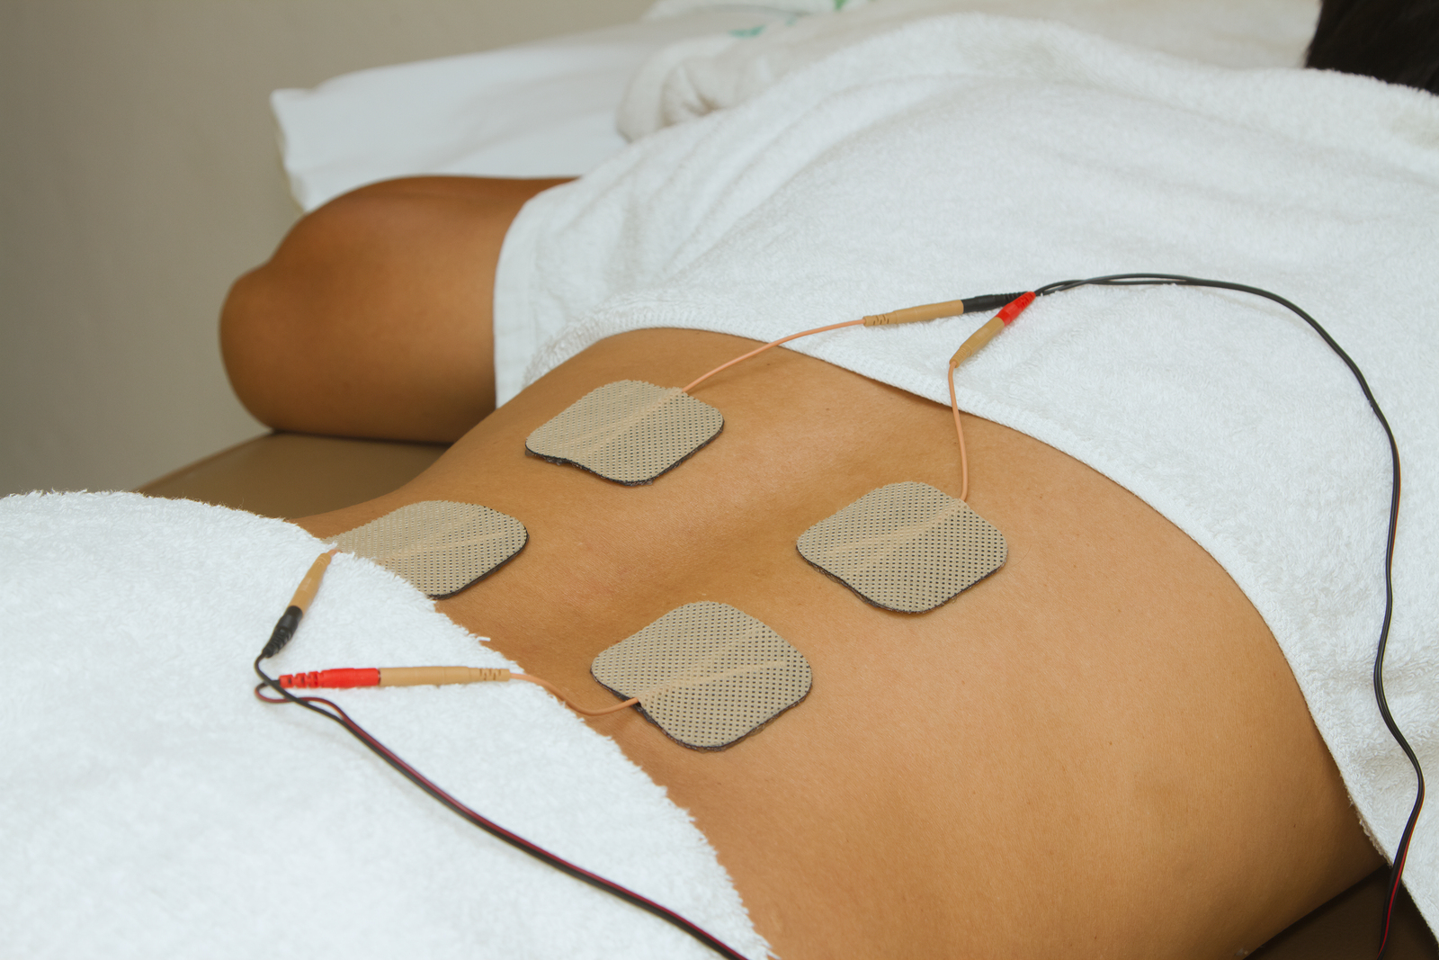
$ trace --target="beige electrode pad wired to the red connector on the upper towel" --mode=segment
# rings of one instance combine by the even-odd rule
[[[800,537],[800,556],[886,610],[921,613],[1004,566],[1004,535],[963,499],[905,481]]]

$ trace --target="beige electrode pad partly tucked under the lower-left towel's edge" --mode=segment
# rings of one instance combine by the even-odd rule
[[[519,553],[525,525],[479,504],[426,499],[330,540],[368,557],[430,597],[463,590]]]

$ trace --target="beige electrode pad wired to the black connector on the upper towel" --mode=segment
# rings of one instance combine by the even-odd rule
[[[708,443],[724,417],[678,387],[617,380],[584,394],[525,440],[525,449],[616,484],[648,484]]]

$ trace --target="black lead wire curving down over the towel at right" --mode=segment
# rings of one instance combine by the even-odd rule
[[[1344,348],[1340,347],[1333,337],[1330,337],[1328,331],[1320,325],[1320,321],[1314,320],[1299,307],[1278,294],[1259,286],[1232,284],[1229,281],[1202,279],[1197,276],[1184,276],[1181,273],[1111,273],[1108,276],[1091,276],[1088,279],[1046,284],[1035,291],[1035,296],[1048,296],[1049,294],[1059,294],[1078,286],[1213,286],[1217,289],[1232,289],[1271,299],[1297,314],[1324,340],[1325,344],[1328,344],[1330,350],[1333,350],[1338,358],[1344,361],[1344,366],[1348,367],[1351,374],[1354,374],[1354,380],[1358,381],[1358,389],[1364,391],[1364,399],[1368,400],[1368,407],[1379,419],[1379,425],[1384,427],[1384,436],[1389,439],[1389,456],[1393,463],[1393,479],[1390,482],[1389,495],[1389,537],[1384,544],[1384,622],[1379,630],[1379,646],[1374,651],[1374,702],[1379,704],[1379,715],[1384,720],[1389,734],[1399,744],[1400,750],[1404,751],[1404,756],[1409,757],[1409,764],[1415,769],[1416,789],[1415,806],[1409,812],[1409,822],[1404,823],[1404,832],[1399,839],[1399,846],[1394,851],[1394,861],[1389,869],[1389,897],[1384,904],[1384,930],[1379,943],[1379,960],[1383,960],[1384,951],[1389,947],[1389,931],[1394,915],[1394,901],[1399,898],[1399,885],[1404,875],[1404,861],[1409,858],[1409,842],[1413,839],[1415,825],[1419,822],[1419,810],[1425,805],[1425,771],[1419,766],[1419,757],[1415,756],[1413,747],[1409,746],[1404,734],[1400,733],[1399,724],[1394,723],[1394,715],[1389,711],[1389,698],[1384,695],[1384,651],[1389,646],[1389,626],[1394,616],[1394,537],[1399,530],[1400,489],[1399,443],[1394,440],[1394,432],[1389,426],[1389,417],[1386,417],[1384,412],[1379,407],[1379,402],[1374,399],[1373,390],[1368,389],[1368,381],[1360,371],[1358,364],[1356,364]]]

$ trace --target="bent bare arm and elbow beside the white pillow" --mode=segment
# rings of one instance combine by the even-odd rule
[[[282,430],[459,439],[495,409],[489,309],[505,229],[558,183],[390,180],[301,219],[220,312],[240,402]]]

